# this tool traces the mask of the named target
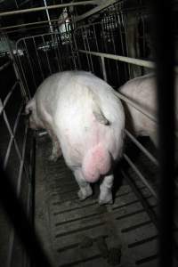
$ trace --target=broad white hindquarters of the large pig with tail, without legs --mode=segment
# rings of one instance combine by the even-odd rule
[[[85,180],[95,182],[121,154],[125,116],[109,85],[85,72],[71,75],[64,77],[54,123],[69,167],[82,167]]]

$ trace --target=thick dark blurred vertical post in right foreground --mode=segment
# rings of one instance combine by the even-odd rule
[[[173,266],[174,227],[174,1],[155,0],[154,42],[158,85],[159,266]]]

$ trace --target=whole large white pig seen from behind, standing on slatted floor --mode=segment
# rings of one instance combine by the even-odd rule
[[[62,153],[79,186],[80,200],[93,194],[101,178],[99,204],[112,203],[113,164],[121,157],[125,113],[114,89],[85,71],[48,77],[26,106],[32,129],[45,128],[52,159]]]

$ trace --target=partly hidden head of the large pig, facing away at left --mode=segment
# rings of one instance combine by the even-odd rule
[[[29,127],[31,129],[37,130],[43,127],[36,114],[36,101],[34,99],[28,101],[25,108],[25,114],[29,117]]]

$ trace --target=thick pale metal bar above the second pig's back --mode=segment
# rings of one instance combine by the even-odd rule
[[[139,60],[139,59],[119,56],[119,55],[112,54],[112,53],[99,53],[99,52],[85,51],[85,50],[81,50],[81,49],[78,50],[78,52],[93,54],[93,55],[98,56],[98,57],[103,57],[103,58],[115,60],[115,61],[122,61],[122,62],[130,63],[130,64],[146,67],[149,69],[155,68],[154,62],[151,62],[151,61],[143,61],[143,60]]]

